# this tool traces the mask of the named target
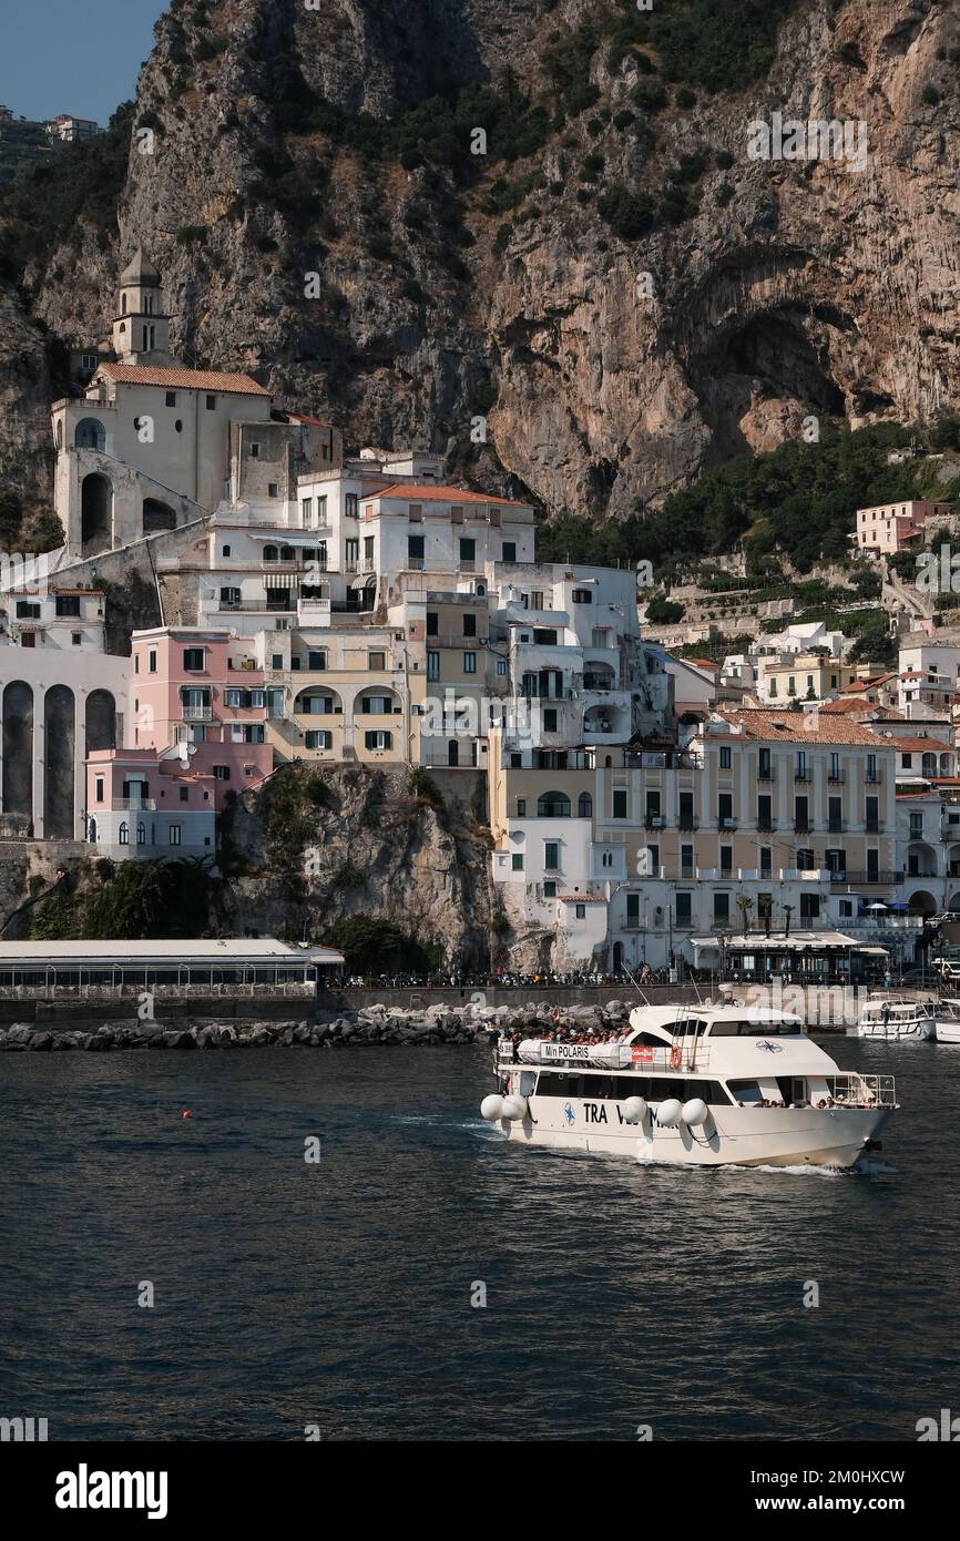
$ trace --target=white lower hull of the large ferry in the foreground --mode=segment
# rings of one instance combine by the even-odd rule
[[[505,1137],[550,1150],[599,1151],[650,1165],[683,1167],[855,1167],[868,1154],[891,1108],[710,1108],[703,1128],[661,1128],[652,1111],[627,1123],[616,1103],[609,1122],[593,1122],[596,1105],[559,1097],[529,1099],[524,1119],[501,1119]],[[590,1120],[590,1122],[587,1122]]]

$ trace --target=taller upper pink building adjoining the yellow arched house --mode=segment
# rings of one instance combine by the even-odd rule
[[[273,770],[263,672],[230,630],[156,627],[133,633],[131,734],[136,749],[174,750],[213,777],[214,806]]]

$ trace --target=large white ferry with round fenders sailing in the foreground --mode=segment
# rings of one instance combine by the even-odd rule
[[[840,1071],[800,1017],[737,1002],[638,1006],[619,1043],[495,1049],[481,1114],[527,1145],[695,1167],[855,1167],[897,1108],[892,1076]]]

